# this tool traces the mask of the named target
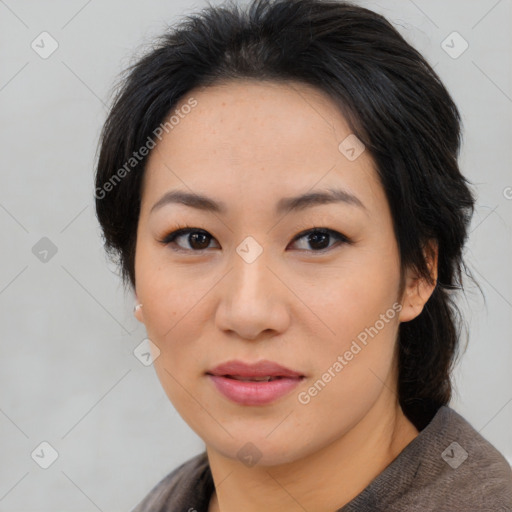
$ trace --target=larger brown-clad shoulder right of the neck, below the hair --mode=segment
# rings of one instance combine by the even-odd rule
[[[340,512],[512,512],[512,469],[460,414],[441,407]]]

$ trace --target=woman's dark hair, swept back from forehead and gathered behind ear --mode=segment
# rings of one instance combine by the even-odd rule
[[[417,318],[400,325],[398,339],[399,401],[422,429],[451,396],[460,337],[452,292],[462,289],[461,271],[469,275],[462,248],[474,198],[457,163],[457,107],[381,15],[336,0],[255,0],[247,9],[209,5],[170,28],[126,70],[101,135],[95,197],[107,252],[125,285],[135,286],[147,156],[134,161],[134,152],[193,88],[236,79],[303,82],[339,105],[375,162],[402,276],[413,268],[430,279],[424,249],[437,242],[434,292]]]

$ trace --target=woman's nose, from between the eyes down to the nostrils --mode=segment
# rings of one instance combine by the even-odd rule
[[[287,301],[293,294],[279,279],[265,251],[252,262],[234,251],[230,263],[218,290],[217,327],[247,340],[286,331],[290,322]]]

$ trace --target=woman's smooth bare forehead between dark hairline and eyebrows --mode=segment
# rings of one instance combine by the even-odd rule
[[[172,113],[190,98],[196,106],[150,154],[143,198],[179,187],[219,200],[250,193],[266,203],[342,185],[366,202],[379,199],[370,156],[350,161],[340,151],[351,129],[322,91],[297,82],[234,81],[190,91]]]

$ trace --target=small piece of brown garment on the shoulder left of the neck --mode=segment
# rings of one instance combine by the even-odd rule
[[[132,512],[201,510],[212,486],[208,458],[202,452],[160,480]]]

